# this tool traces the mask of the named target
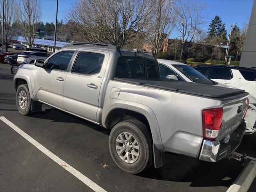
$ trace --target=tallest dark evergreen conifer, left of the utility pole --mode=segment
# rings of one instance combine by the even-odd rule
[[[218,15],[216,15],[213,19],[212,22],[209,24],[208,28],[208,38],[214,38],[219,35],[222,35],[226,41],[226,36],[227,36],[227,31],[225,28],[225,24],[222,23],[222,20]]]

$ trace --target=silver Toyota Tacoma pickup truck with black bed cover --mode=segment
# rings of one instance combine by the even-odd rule
[[[111,130],[110,154],[132,174],[162,166],[165,152],[216,162],[246,130],[244,90],[161,78],[151,53],[106,44],[68,44],[21,65],[14,87],[21,114],[44,103]]]

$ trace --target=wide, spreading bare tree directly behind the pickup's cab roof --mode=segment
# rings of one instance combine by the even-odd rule
[[[68,11],[77,40],[122,46],[141,37],[152,15],[151,0],[81,0]]]

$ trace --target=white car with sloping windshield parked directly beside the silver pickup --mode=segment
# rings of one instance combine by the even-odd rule
[[[171,61],[171,60],[163,60],[158,59],[158,64],[160,68],[160,77],[162,78],[170,78],[174,80],[182,80],[188,82],[196,82],[196,83],[204,83],[211,84],[216,86],[223,86],[228,88],[235,88],[230,86],[229,84],[224,84],[221,82],[215,82],[208,79],[202,73],[198,72],[194,68],[188,66],[187,64]],[[240,88],[242,89],[242,88]],[[252,134],[256,132],[256,98],[250,94],[249,96],[249,108],[246,114],[247,128],[246,134]]]

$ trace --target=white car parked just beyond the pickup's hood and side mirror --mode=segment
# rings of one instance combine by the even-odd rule
[[[24,51],[18,55],[17,63],[19,64],[30,64],[34,63],[36,59],[46,60],[50,54],[39,51]]]

